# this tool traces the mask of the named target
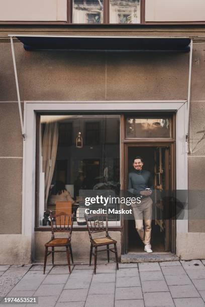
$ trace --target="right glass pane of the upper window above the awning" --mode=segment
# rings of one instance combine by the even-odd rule
[[[111,24],[139,24],[140,0],[110,0]]]

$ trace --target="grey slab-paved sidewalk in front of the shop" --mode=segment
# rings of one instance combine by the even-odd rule
[[[37,296],[38,304],[0,306],[205,306],[205,260],[74,265],[0,265],[0,296]]]

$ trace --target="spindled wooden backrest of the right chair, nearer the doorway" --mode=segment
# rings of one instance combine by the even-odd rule
[[[106,232],[108,237],[108,215],[107,214],[89,214],[84,215],[87,224],[89,237],[92,240],[92,234]]]

